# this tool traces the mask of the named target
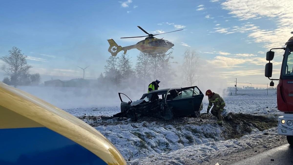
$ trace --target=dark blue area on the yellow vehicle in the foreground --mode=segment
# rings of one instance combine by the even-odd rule
[[[86,140],[86,139],[84,139]],[[0,129],[0,164],[106,164],[76,142],[46,127]]]

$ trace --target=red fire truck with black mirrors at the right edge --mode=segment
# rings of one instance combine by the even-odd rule
[[[279,79],[271,79],[272,63],[270,61],[275,55],[273,49],[285,50]],[[268,51],[266,60],[269,62],[265,64],[265,76],[271,80],[270,86],[274,86],[273,80],[279,81],[277,85],[277,106],[278,110],[284,112],[284,114],[278,118],[278,134],[286,135],[288,143],[293,146],[293,37],[289,38],[285,47],[272,48]]]

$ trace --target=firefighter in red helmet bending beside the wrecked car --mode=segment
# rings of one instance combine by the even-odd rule
[[[223,125],[222,112],[226,106],[224,99],[218,93],[214,93],[210,89],[205,92],[205,96],[209,98],[207,113],[209,113],[210,108],[212,108],[212,105],[214,104],[211,113],[218,118],[218,124]]]

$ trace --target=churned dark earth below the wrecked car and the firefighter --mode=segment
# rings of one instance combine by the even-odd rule
[[[237,139],[243,135],[251,134],[251,132],[258,132],[270,129],[277,126],[277,117],[276,116],[263,116],[263,115],[250,115],[237,113],[229,113],[232,117],[232,121],[228,121],[227,118],[223,120],[222,136],[225,140]],[[165,121],[159,118],[150,118],[143,117],[139,118],[137,121],[132,121],[129,118],[104,118],[102,116],[82,116],[78,117],[84,122],[88,123],[92,127],[98,126],[109,126],[109,125],[126,125],[134,123],[152,123],[156,122],[156,125],[165,127],[167,125],[173,125],[176,130],[189,130],[190,125],[206,125],[212,124],[214,127],[219,127],[217,125],[217,118],[211,114],[203,113],[198,118],[174,118],[172,120]],[[193,131],[192,131],[193,132]],[[196,133],[196,132],[194,132]],[[212,138],[210,135],[206,136],[207,138]]]

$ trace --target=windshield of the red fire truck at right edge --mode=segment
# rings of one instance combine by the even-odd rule
[[[282,66],[282,75],[293,77],[293,45],[287,45]]]

